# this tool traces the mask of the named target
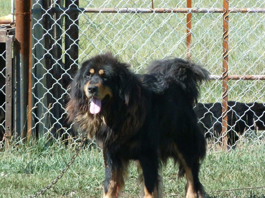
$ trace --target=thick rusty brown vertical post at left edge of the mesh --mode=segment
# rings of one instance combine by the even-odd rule
[[[28,105],[28,57],[29,57],[29,15],[30,1],[16,0],[16,40],[20,44],[20,131],[21,139],[27,136],[27,105]]]

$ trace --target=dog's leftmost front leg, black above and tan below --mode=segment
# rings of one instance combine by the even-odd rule
[[[103,198],[117,198],[124,188],[124,163],[110,152],[103,152],[105,164],[105,182]]]

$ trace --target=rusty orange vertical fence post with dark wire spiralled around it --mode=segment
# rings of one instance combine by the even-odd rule
[[[228,110],[228,0],[223,0],[223,100],[222,100],[222,143],[227,150],[227,110]]]

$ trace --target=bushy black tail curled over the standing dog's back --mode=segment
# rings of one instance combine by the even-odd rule
[[[180,58],[155,60],[147,70],[157,76],[164,89],[180,86],[195,102],[200,95],[201,83],[209,80],[209,72],[205,68]]]

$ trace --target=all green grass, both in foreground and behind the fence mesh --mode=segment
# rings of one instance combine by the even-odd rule
[[[80,1],[80,7],[150,7],[150,1]],[[222,0],[192,1],[193,7],[222,7]],[[229,1],[236,7],[265,7],[264,1]],[[184,7],[185,1],[154,1],[155,7]],[[0,16],[10,14],[10,1],[0,0]],[[264,13],[229,14],[229,74],[265,74]],[[185,20],[182,13],[123,14],[84,13],[79,16],[79,62],[112,50],[132,64],[138,73],[153,59],[174,55],[185,57]],[[63,17],[62,17],[63,22]],[[222,15],[192,14],[192,59],[212,74],[222,73]],[[64,41],[64,35],[63,35]],[[34,41],[34,40],[33,40]],[[64,44],[63,44],[64,46]],[[63,51],[64,53],[64,51]],[[63,55],[64,56],[64,55]],[[211,81],[201,88],[202,102],[220,101],[222,84]],[[229,100],[265,102],[263,81],[229,81]],[[265,143],[242,145],[229,153],[209,150],[202,163],[200,178],[210,197],[264,198],[264,188],[215,192],[234,188],[264,186]],[[26,197],[46,185],[61,172],[74,148],[43,143],[12,148],[0,153],[0,198]],[[173,162],[164,167],[165,197],[183,197],[185,181],[177,180]],[[139,197],[137,171],[131,164],[124,197]],[[81,151],[67,173],[41,197],[101,197],[104,166],[101,153],[92,147]],[[73,194],[73,193],[72,193]]]

